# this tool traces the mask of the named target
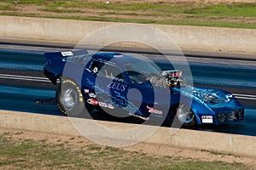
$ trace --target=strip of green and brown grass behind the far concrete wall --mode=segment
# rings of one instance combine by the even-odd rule
[[[3,0],[0,14],[71,20],[98,20],[143,24],[218,26],[256,29],[256,3],[183,4],[87,3],[82,0]],[[38,12],[23,13],[23,5],[37,5]]]

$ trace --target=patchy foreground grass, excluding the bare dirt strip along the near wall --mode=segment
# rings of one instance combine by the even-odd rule
[[[69,141],[14,139],[23,133],[0,135],[1,169],[250,169],[240,163],[207,162],[172,156],[149,156],[96,144]]]

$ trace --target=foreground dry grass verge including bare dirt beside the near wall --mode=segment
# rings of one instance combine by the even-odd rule
[[[253,162],[209,150],[157,144],[117,149],[82,137],[0,128],[1,169],[253,169]]]

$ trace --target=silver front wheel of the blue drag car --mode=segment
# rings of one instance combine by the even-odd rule
[[[188,106],[182,105],[177,109],[177,117],[180,122],[188,124],[193,122],[195,115]]]

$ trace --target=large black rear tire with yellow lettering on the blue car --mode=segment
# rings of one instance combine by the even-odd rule
[[[86,105],[78,84],[71,79],[66,78],[58,84],[55,97],[59,110],[65,116],[85,117],[94,109],[92,105]]]

